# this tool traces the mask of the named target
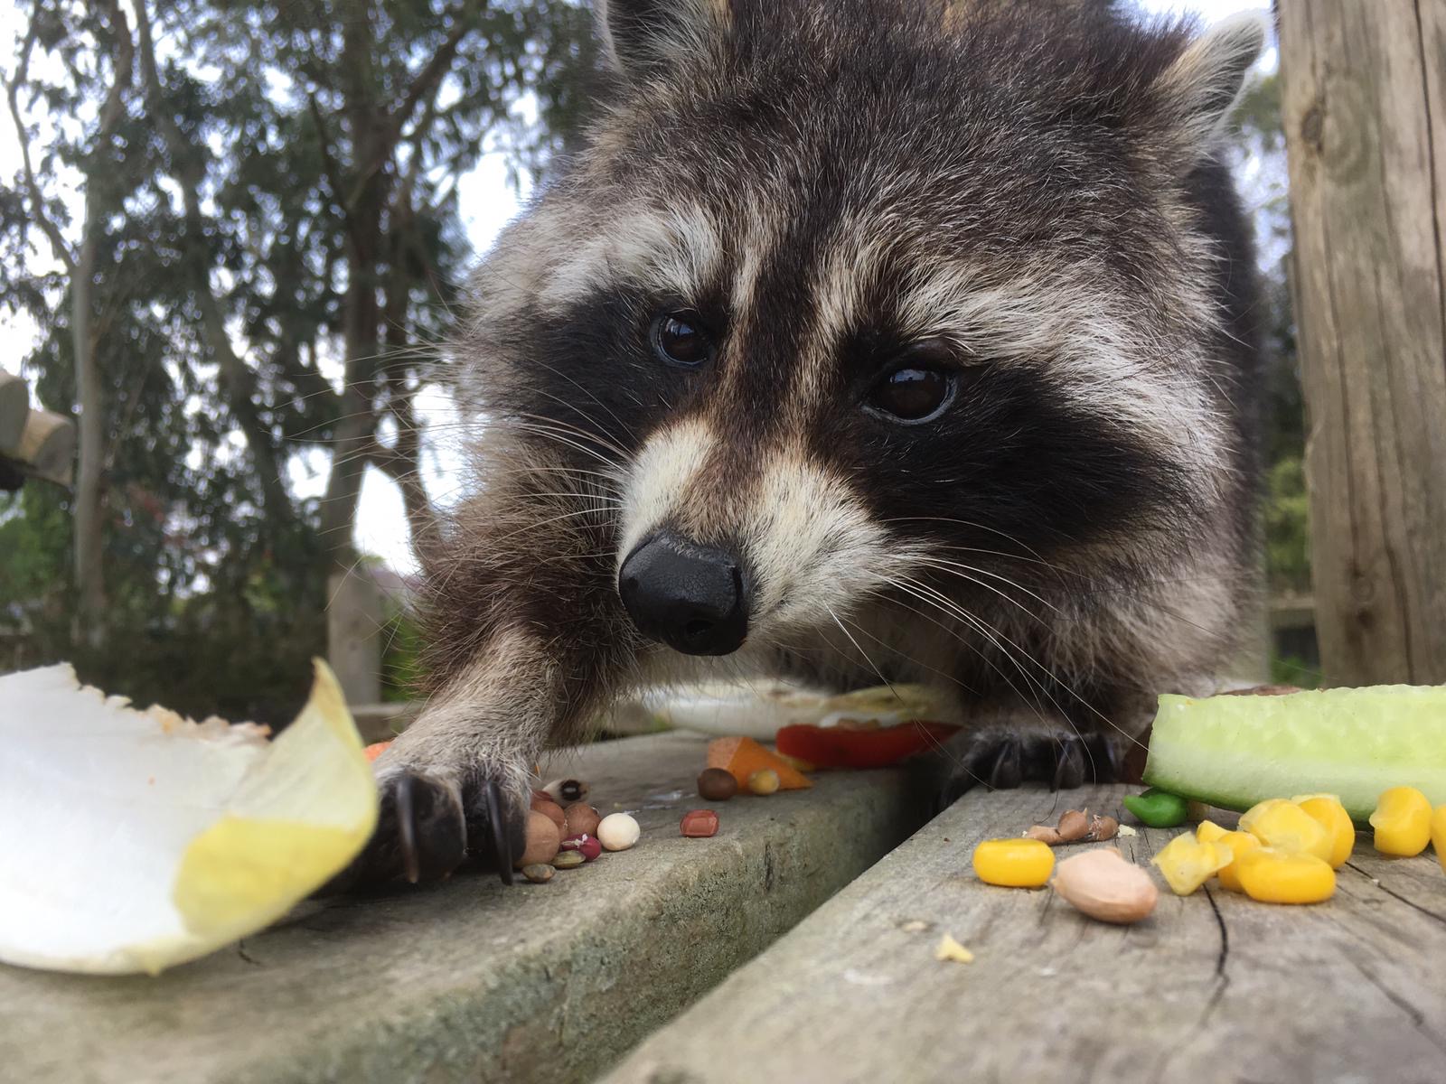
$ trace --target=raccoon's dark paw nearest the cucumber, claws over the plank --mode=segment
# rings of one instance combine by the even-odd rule
[[[938,806],[947,808],[976,786],[1008,791],[1025,782],[1067,791],[1121,779],[1119,740],[1105,734],[1041,733],[1009,728],[964,731],[946,746],[949,778]]]

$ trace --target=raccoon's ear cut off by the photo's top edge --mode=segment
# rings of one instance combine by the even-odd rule
[[[700,64],[732,20],[730,0],[596,0],[594,10],[609,62],[633,79]]]

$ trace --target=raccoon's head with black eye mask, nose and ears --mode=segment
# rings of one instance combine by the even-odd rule
[[[947,9],[947,10],[946,10]],[[479,279],[480,397],[616,497],[646,636],[1141,559],[1239,449],[1186,178],[1262,43],[1054,4],[609,0],[619,90]]]

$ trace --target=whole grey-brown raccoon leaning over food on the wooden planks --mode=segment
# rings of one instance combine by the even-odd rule
[[[615,697],[933,682],[951,796],[1118,775],[1255,594],[1265,40],[1098,3],[606,0],[580,146],[473,283],[474,496],[354,874],[510,877]]]

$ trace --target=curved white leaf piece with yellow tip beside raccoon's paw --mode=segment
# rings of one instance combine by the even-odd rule
[[[377,793],[322,662],[266,728],[136,711],[68,665],[0,678],[0,960],[156,974],[281,918],[356,857]]]

